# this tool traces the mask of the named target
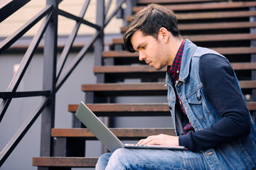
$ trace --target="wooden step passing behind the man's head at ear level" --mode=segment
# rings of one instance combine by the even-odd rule
[[[236,33],[236,34],[213,34],[213,35],[182,35],[182,38],[189,39],[192,42],[212,42],[212,41],[238,41],[238,40],[256,40],[256,34]],[[123,44],[122,38],[114,38],[113,44]]]

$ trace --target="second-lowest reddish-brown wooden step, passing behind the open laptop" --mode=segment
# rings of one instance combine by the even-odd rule
[[[140,140],[150,135],[175,135],[174,128],[110,128],[120,140]],[[52,129],[52,137],[85,137],[97,140],[87,128]]]

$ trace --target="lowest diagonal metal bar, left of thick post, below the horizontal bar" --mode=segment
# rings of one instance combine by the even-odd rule
[[[29,115],[27,120],[21,125],[21,128],[18,129],[16,134],[11,138],[11,140],[7,143],[3,150],[0,152],[0,167],[4,164],[5,160],[9,157],[11,152],[15,149],[18,143],[22,140],[26,132],[31,128],[33,123],[36,121],[38,116],[41,114],[44,108],[46,108],[48,104],[49,98],[44,97],[42,101],[38,104],[36,109]]]

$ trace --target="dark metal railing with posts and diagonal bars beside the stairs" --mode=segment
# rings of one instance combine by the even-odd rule
[[[12,13],[18,11],[19,8],[22,8],[29,1],[30,0],[2,1],[0,4],[0,22],[11,16]],[[3,120],[7,109],[9,108],[12,98],[25,98],[31,96],[43,96],[43,98],[38,103],[38,106],[36,106],[31,115],[28,116],[23,125],[21,125],[15,135],[7,143],[6,147],[1,150],[0,166],[4,164],[6,159],[21,141],[23,136],[26,135],[26,132],[28,132],[39,115],[42,115],[41,125],[43,127],[41,128],[41,157],[50,157],[53,154],[53,137],[50,136],[50,130],[51,128],[54,128],[55,94],[65,83],[66,79],[68,79],[70,74],[73,72],[75,67],[79,64],[79,62],[82,60],[82,58],[93,44],[95,44],[95,65],[102,65],[104,28],[108,23],[110,23],[111,19],[117,14],[120,8],[122,8],[122,4],[124,4],[126,0],[117,0],[116,8],[114,11],[112,11],[108,18],[106,16],[110,10],[110,4],[113,3],[112,0],[107,1],[106,6],[105,0],[97,0],[96,23],[91,23],[84,19],[85,12],[87,11],[87,8],[90,4],[90,0],[85,0],[79,16],[74,16],[71,13],[60,10],[58,8],[58,4],[60,4],[60,2],[61,0],[46,0],[45,8],[43,8],[39,13],[36,14],[36,16],[21,26],[21,28],[18,28],[15,33],[0,43],[1,55],[9,47],[11,47],[14,42],[16,42],[28,30],[30,30],[30,28],[32,28],[36,23],[43,19],[43,22],[41,23],[41,26],[38,29],[36,35],[34,35],[28,50],[26,50],[18,72],[11,80],[8,89],[6,89],[4,92],[0,92],[0,98],[2,98],[0,103],[0,123],[1,120]],[[127,15],[129,15],[132,11],[132,3],[134,3],[134,1],[127,1],[127,11],[130,11],[127,13]],[[76,24],[72,33],[70,33],[68,41],[65,44],[65,47],[63,48],[63,51],[57,62],[58,15],[70,18],[76,21]],[[73,46],[73,42],[78,34],[78,30],[81,24],[95,28],[96,33],[91,36],[89,42],[86,42],[86,45],[82,47],[73,61],[70,62],[68,67],[64,69],[64,64],[68,58],[70,49]],[[43,89],[41,91],[16,91],[42,38],[44,38],[44,67],[42,77]]]

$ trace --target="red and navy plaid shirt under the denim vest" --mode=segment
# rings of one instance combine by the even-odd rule
[[[180,69],[181,69],[181,58],[183,55],[184,45],[185,45],[185,40],[183,40],[181,42],[181,46],[178,49],[178,52],[176,54],[176,57],[174,58],[173,64],[171,64],[171,66],[167,67],[167,72],[170,75],[170,77],[172,78],[173,82],[175,82],[174,84],[176,84],[176,82],[178,81],[178,76],[179,76]],[[183,114],[183,116],[187,116],[186,111],[181,102],[181,98],[178,96],[177,91],[176,91],[176,97],[178,100],[179,109],[181,110],[181,114]],[[193,129],[193,126],[191,125],[191,123],[189,122],[188,125],[183,127],[183,131],[184,131],[183,135],[186,135],[190,130],[194,130],[194,129]]]

